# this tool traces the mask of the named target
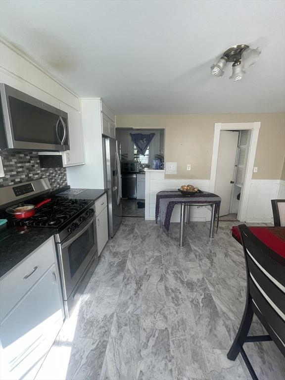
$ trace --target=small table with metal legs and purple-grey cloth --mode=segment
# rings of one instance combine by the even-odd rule
[[[159,220],[161,228],[168,233],[171,215],[176,204],[180,205],[180,232],[179,246],[184,246],[185,224],[190,221],[190,206],[209,206],[211,207],[211,222],[209,237],[214,237],[215,220],[217,220],[217,231],[219,227],[219,212],[221,197],[208,191],[199,190],[197,193],[187,196],[179,190],[159,191],[156,194],[155,220]],[[187,211],[187,214],[186,214]],[[187,217],[187,218],[186,218]]]

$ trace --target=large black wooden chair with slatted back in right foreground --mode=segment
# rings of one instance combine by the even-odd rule
[[[285,356],[285,260],[245,226],[238,226],[246,263],[247,294],[243,317],[228,359],[240,353],[253,380],[258,380],[243,344],[273,340]],[[248,336],[255,314],[268,335]]]

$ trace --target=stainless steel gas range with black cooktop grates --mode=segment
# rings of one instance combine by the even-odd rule
[[[59,191],[62,191],[59,190]],[[8,215],[5,209],[50,201],[36,208],[35,215],[18,219]],[[19,234],[34,228],[53,228],[60,268],[62,294],[68,317],[82,295],[98,262],[95,225],[95,202],[51,192],[47,178],[0,188],[1,216],[8,220],[8,227],[16,227]]]

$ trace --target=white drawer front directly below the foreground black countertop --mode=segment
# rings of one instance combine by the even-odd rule
[[[16,305],[55,261],[53,237],[31,253],[0,281],[0,319]],[[36,268],[36,269],[35,269]],[[26,278],[25,278],[26,277]]]

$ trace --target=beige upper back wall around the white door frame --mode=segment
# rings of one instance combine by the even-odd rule
[[[260,121],[253,179],[280,179],[285,157],[285,113],[117,115],[117,127],[165,128],[165,161],[177,162],[166,178],[210,179],[215,123]],[[187,164],[191,170],[187,171]]]

